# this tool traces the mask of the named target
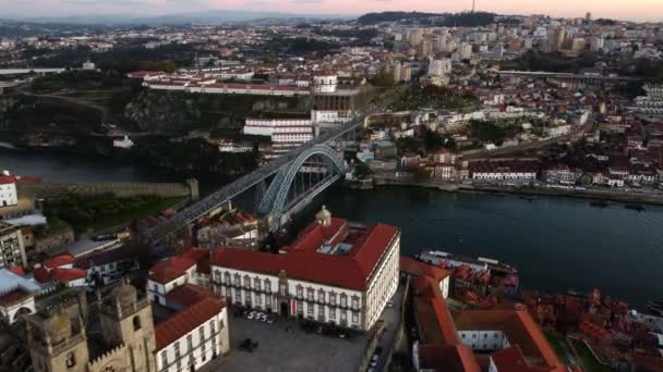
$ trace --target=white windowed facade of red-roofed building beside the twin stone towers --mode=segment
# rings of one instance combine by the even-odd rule
[[[228,349],[228,308],[205,321],[197,328],[157,350],[157,371],[198,370]]]

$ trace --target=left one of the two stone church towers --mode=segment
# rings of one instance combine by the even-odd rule
[[[35,372],[86,372],[89,355],[85,322],[62,311],[40,312],[27,320],[29,355]]]

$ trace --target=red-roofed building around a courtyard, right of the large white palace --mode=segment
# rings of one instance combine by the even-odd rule
[[[418,261],[401,265],[411,276],[417,371],[479,372],[480,361],[491,372],[566,371],[526,310],[450,311],[444,292],[448,271]]]

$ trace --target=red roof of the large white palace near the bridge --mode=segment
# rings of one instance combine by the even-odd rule
[[[298,240],[284,248],[286,253],[220,247],[214,250],[212,265],[248,272],[288,276],[302,281],[364,290],[383,253],[399,235],[394,226],[376,224],[365,230],[350,231],[348,222],[332,219],[330,226],[316,223],[305,228]],[[348,244],[345,253],[320,252],[325,244]]]

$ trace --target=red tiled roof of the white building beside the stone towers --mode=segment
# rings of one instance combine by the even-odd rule
[[[157,325],[155,331],[157,350],[161,350],[201,324],[221,312],[226,303],[215,297],[206,297],[178,312],[172,318]]]

